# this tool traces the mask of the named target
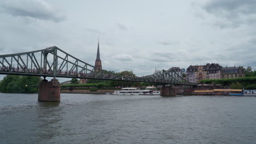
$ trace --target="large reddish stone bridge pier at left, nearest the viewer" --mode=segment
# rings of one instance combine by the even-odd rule
[[[38,101],[60,101],[60,82],[57,79],[51,81],[42,80],[39,84]]]

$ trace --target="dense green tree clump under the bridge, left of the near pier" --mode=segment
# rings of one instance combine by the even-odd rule
[[[0,92],[2,93],[35,93],[38,91],[40,77],[7,75],[0,81]],[[26,85],[28,87],[26,87]],[[31,87],[30,87],[31,86]]]

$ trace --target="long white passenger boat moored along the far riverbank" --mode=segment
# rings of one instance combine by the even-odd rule
[[[121,91],[114,91],[114,95],[160,95],[160,91],[153,91],[153,88],[146,88],[146,90],[141,90],[135,87],[122,88]]]

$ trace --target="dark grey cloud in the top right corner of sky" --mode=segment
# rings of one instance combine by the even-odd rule
[[[215,23],[220,28],[256,23],[256,1],[254,0],[212,0],[202,8],[207,13],[222,18]]]

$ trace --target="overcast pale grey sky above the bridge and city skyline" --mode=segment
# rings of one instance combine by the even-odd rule
[[[102,67],[154,69],[219,63],[256,68],[255,0],[0,0],[0,50],[57,46]]]

